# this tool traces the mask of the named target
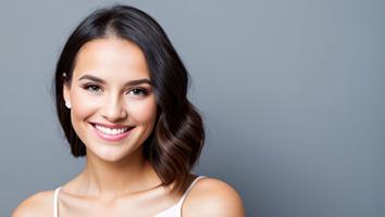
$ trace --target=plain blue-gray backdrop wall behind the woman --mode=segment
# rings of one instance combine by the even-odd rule
[[[50,85],[71,30],[109,1],[2,1],[0,216],[80,171]],[[247,216],[385,216],[385,3],[120,1],[159,21],[192,80],[208,140],[195,173]]]

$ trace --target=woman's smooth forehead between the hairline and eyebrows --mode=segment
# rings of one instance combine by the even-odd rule
[[[120,79],[150,78],[140,48],[119,38],[95,39],[85,43],[76,55],[73,77],[84,74]]]

